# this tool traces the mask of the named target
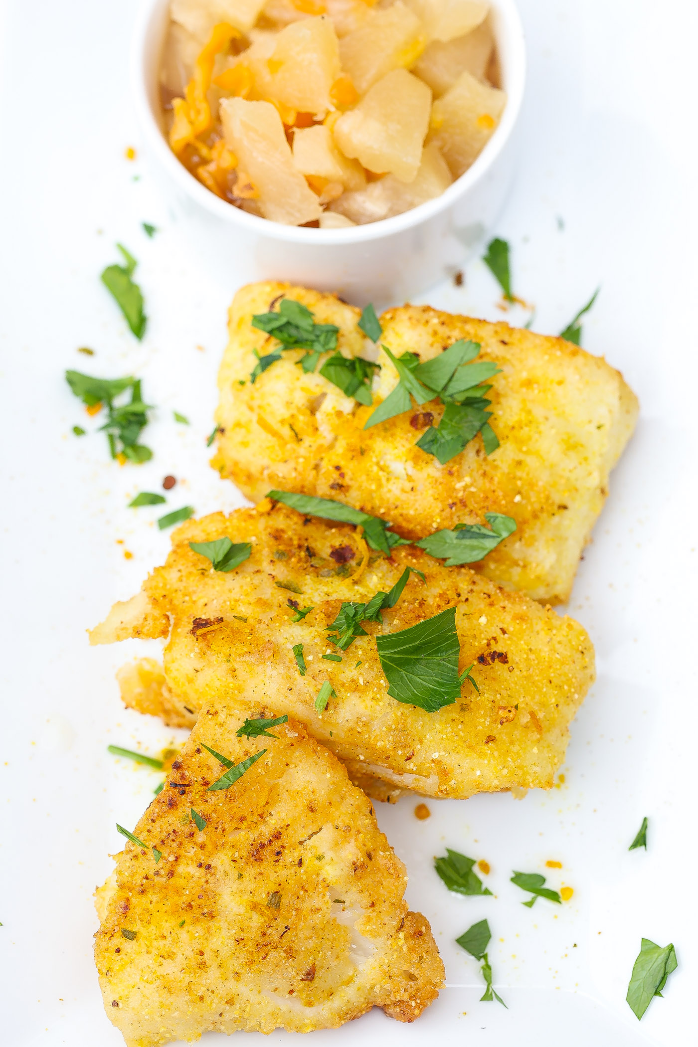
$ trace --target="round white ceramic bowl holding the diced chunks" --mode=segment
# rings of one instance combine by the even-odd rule
[[[205,188],[162,131],[158,73],[168,0],[147,0],[136,27],[133,84],[147,149],[187,240],[234,283],[285,280],[337,291],[358,305],[403,302],[452,273],[497,218],[514,172],[512,133],[525,79],[514,0],[492,0],[502,87],[501,121],[473,165],[442,196],[395,218],[348,229],[308,229],[248,215]]]

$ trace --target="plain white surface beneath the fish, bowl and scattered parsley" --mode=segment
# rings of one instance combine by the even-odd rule
[[[316,1047],[359,1037],[695,1043],[698,18],[689,0],[520,7],[530,59],[520,171],[496,231],[512,243],[515,292],[536,305],[535,330],[557,333],[602,285],[584,343],[623,370],[643,404],[569,608],[592,636],[599,681],[572,726],[560,788],[520,802],[429,801],[426,822],[409,799],[379,810],[454,987],[412,1026],[374,1012],[311,1034]],[[242,504],[207,467],[205,447],[234,287],[193,255],[148,156],[123,158],[127,146],[139,148],[128,84],[133,0],[6,0],[1,9],[0,1041],[117,1045],[92,964],[91,894],[120,848],[114,822],[135,824],[158,776],[106,747],[155,753],[173,734],[118,701],[114,669],[145,646],[89,649],[85,629],[165,555],[168,537],[154,525],[161,507],[129,510],[134,493],[158,490],[172,472],[168,509]],[[158,226],[154,240],[141,221]],[[142,343],[98,280],[117,261],[116,240],[140,263]],[[496,298],[474,260],[461,288],[422,300],[495,318]],[[153,462],[120,469],[104,435],[72,436],[72,425],[92,430],[98,419],[86,422],[66,367],[142,377],[158,406],[144,433]],[[190,427],[172,421],[173,408]],[[649,851],[628,853],[645,815]],[[432,871],[446,845],[490,862],[496,897],[446,891]],[[573,898],[525,909],[511,870],[545,871],[547,859],[563,863],[549,886],[572,886]],[[452,941],[485,916],[509,1010],[477,1002],[477,964]],[[641,936],[673,941],[679,968],[640,1025],[625,994]]]

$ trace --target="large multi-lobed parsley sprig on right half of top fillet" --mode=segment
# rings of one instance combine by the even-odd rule
[[[498,374],[499,369],[489,360],[471,362],[480,351],[477,342],[459,339],[425,363],[420,363],[414,353],[396,358],[387,346],[383,349],[400,381],[368,418],[364,429],[409,410],[410,397],[420,404],[438,397],[446,405],[442,420],[438,426],[429,426],[418,440],[418,447],[433,454],[442,465],[459,454],[478,432],[482,433],[488,454],[497,449],[499,441],[488,421],[492,413],[487,410],[490,401],[486,394],[492,386],[480,383]]]

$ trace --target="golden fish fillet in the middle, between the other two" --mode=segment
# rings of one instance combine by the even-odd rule
[[[251,543],[249,559],[229,573],[213,571],[189,548],[223,537]],[[551,786],[568,725],[593,680],[591,642],[572,619],[413,547],[393,550],[391,558],[368,557],[351,525],[330,526],[280,504],[269,512],[240,509],[188,520],[172,542],[164,565],[134,597],[140,619],[134,601],[116,604],[90,634],[92,643],[170,637],[163,707],[170,722],[194,723],[211,704],[249,716],[264,708],[300,720],[362,784],[380,779],[436,797]],[[338,651],[327,630],[342,601],[367,603],[387,593],[407,565],[425,581],[412,574],[382,625],[364,621],[367,634]],[[474,665],[479,691],[466,681],[459,701],[437,712],[396,700],[376,634],[453,606],[459,670]],[[294,607],[313,609],[294,622]],[[298,644],[305,675],[294,656]],[[318,711],[325,681],[337,696]]]

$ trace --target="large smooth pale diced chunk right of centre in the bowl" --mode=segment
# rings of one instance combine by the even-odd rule
[[[393,8],[388,8],[392,10]],[[393,69],[375,84],[356,109],[334,126],[342,153],[377,174],[411,182],[429,126],[431,90],[406,69]]]

